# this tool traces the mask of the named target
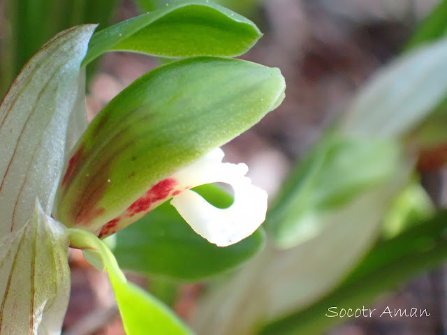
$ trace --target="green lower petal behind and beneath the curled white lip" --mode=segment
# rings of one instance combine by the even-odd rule
[[[207,200],[231,198],[217,187],[201,188]],[[198,281],[233,269],[260,251],[265,242],[259,229],[233,246],[219,248],[196,234],[168,203],[109,239],[113,239],[112,251],[123,269],[184,281]]]

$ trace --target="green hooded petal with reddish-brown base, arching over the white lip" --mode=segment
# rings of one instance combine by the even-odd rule
[[[284,77],[238,59],[175,61],[140,77],[91,122],[57,195],[57,217],[90,231],[151,186],[258,122],[284,98]]]

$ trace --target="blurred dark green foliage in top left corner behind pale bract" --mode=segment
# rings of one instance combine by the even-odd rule
[[[52,36],[77,24],[110,22],[118,0],[6,0],[1,22],[0,96],[20,68]]]

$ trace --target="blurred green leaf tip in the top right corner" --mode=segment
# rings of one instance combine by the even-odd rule
[[[441,0],[423,20],[406,43],[405,50],[411,50],[423,43],[437,40],[447,33],[447,0]]]

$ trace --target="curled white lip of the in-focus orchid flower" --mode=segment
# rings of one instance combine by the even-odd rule
[[[245,177],[247,165],[222,163],[224,155],[222,149],[214,149],[171,176],[179,188],[216,182],[233,187],[235,200],[226,209],[214,207],[189,189],[170,202],[197,234],[217,246],[229,246],[249,237],[265,221],[267,211],[268,195]]]

